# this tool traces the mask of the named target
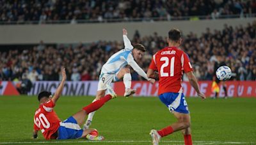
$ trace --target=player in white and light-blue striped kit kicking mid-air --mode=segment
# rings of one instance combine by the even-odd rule
[[[127,65],[131,66],[134,71],[138,72],[140,76],[154,83],[156,80],[148,78],[147,74],[141,69],[141,67],[136,63],[136,61],[141,60],[146,49],[141,44],[131,45],[131,41],[127,38],[127,31],[123,29],[123,38],[124,38],[124,49],[120,50],[113,54],[106,64],[102,66],[100,76],[98,91],[96,98],[93,100],[99,100],[104,97],[106,93],[106,85],[109,85],[112,82],[118,81],[123,78],[125,86],[125,97],[129,97],[135,93],[136,90],[131,89],[131,72]],[[92,118],[95,112],[88,115],[87,121],[84,124],[84,128],[89,128],[92,123]]]

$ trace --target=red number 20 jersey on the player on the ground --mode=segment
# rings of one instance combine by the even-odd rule
[[[60,127],[60,119],[53,110],[54,106],[52,100],[40,104],[34,116],[34,129],[41,130],[45,139],[51,139],[51,135]]]

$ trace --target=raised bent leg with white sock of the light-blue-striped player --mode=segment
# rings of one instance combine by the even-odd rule
[[[136,92],[136,90],[131,89],[132,76],[131,76],[131,71],[130,71],[129,68],[124,67],[124,68],[120,69],[118,74],[116,74],[116,77],[118,79],[122,79],[123,78],[124,86],[125,86],[125,93],[124,93],[125,97],[130,97],[130,96],[132,96]]]

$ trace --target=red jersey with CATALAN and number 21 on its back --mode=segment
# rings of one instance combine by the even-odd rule
[[[149,69],[159,72],[158,95],[166,92],[181,92],[183,71],[193,71],[188,55],[177,47],[159,50],[153,55]]]

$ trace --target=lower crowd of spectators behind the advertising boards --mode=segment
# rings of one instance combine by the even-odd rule
[[[246,27],[225,25],[222,31],[207,29],[202,36],[184,36],[182,49],[188,53],[195,75],[200,80],[212,80],[218,64],[230,66],[232,79],[256,80],[256,22]],[[138,64],[147,71],[152,55],[166,46],[166,38],[154,33],[141,37],[135,32],[132,43],[146,48]],[[98,41],[90,44],[47,46],[41,41],[30,49],[0,52],[2,80],[60,80],[60,68],[67,68],[67,80],[97,80],[104,62],[124,47],[122,41]],[[132,79],[141,80],[136,72]],[[184,78],[186,79],[186,78]]]

